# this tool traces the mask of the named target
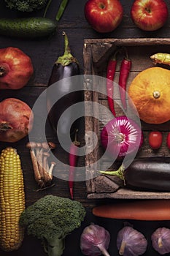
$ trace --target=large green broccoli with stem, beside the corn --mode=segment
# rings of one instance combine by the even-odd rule
[[[61,256],[65,238],[85,218],[82,203],[65,197],[46,195],[20,215],[20,225],[27,227],[28,235],[42,239],[49,256]]]

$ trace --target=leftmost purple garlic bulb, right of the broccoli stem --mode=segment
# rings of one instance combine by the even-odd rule
[[[109,248],[110,235],[104,227],[91,224],[82,231],[80,237],[80,248],[84,255],[109,256],[107,249]]]

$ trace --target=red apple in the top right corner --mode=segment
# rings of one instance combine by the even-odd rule
[[[131,7],[131,19],[145,31],[161,29],[169,16],[164,0],[135,0]]]

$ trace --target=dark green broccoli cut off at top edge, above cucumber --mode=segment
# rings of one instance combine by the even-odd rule
[[[7,7],[20,12],[33,12],[45,7],[47,0],[4,0]]]

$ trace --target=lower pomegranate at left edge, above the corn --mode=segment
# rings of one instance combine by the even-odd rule
[[[0,141],[16,142],[33,127],[34,114],[26,102],[8,98],[0,102]]]

